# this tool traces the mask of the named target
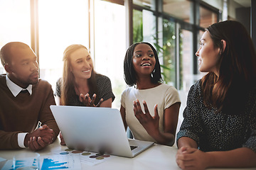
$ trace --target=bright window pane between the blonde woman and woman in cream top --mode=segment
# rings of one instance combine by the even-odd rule
[[[126,53],[125,8],[95,0],[95,71],[109,77],[114,92],[112,108],[120,108]]]

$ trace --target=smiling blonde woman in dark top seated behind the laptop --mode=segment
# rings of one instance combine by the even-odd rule
[[[112,107],[114,94],[110,79],[95,73],[92,58],[83,45],[70,45],[64,51],[63,77],[57,81],[57,104],[66,106]],[[60,144],[65,145],[60,133]]]

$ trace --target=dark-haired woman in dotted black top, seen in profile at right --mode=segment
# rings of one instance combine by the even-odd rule
[[[181,169],[256,166],[256,52],[244,26],[206,28],[196,52],[208,72],[188,94],[177,134]]]

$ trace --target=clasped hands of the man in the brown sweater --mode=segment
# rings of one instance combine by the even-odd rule
[[[31,150],[40,150],[53,142],[53,130],[48,125],[28,133],[24,140],[25,147]]]

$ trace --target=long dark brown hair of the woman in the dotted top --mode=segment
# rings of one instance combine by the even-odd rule
[[[214,23],[206,31],[220,48],[220,56],[219,76],[209,72],[201,81],[204,104],[217,108],[217,113],[243,113],[247,93],[256,84],[256,52],[250,35],[238,21]],[[225,49],[221,40],[226,42]]]

